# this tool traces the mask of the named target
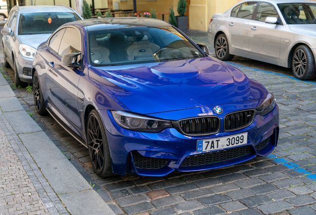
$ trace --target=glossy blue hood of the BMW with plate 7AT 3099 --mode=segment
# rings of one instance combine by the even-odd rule
[[[132,112],[142,114],[262,99],[267,95],[259,82],[212,57],[90,67],[89,78]]]

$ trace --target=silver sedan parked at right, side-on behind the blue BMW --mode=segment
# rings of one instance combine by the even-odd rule
[[[292,68],[316,78],[316,3],[309,0],[241,1],[214,14],[208,29],[218,59],[234,55]]]

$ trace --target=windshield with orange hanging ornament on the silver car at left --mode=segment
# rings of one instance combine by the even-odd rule
[[[20,15],[18,34],[52,34],[61,25],[80,20],[76,13],[41,12]]]

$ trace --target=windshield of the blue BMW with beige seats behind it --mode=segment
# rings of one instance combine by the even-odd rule
[[[205,57],[173,27],[128,27],[89,32],[93,66],[128,65]]]

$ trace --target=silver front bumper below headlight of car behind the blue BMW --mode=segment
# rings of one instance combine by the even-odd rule
[[[32,83],[31,68],[33,59],[18,54],[15,59],[17,74],[22,82]]]

